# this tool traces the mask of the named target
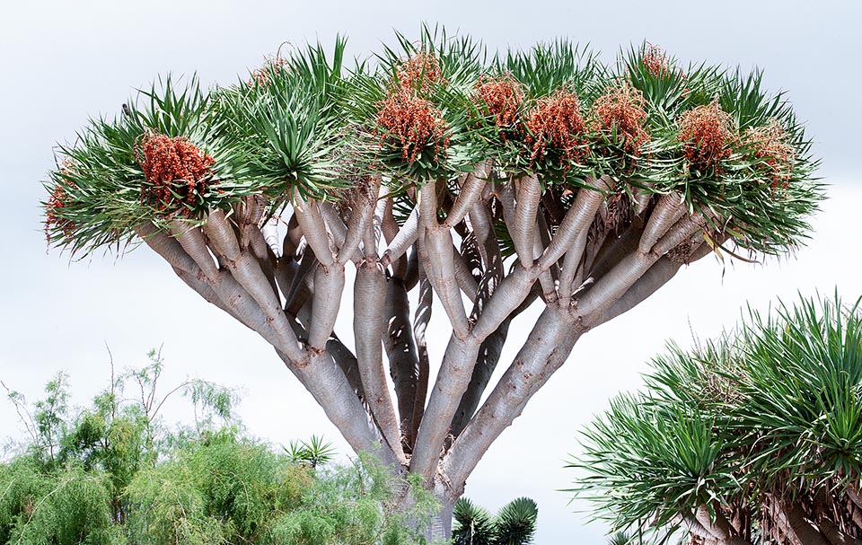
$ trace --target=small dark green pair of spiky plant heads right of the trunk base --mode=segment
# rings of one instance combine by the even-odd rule
[[[539,508],[529,497],[519,497],[494,516],[468,498],[455,503],[454,545],[526,545],[536,532]]]

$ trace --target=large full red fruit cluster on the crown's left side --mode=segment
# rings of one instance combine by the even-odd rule
[[[170,138],[156,133],[141,136],[135,145],[135,159],[144,169],[145,187],[141,198],[153,202],[162,213],[186,213],[183,203],[193,204],[212,183],[211,167],[216,160],[182,136]]]

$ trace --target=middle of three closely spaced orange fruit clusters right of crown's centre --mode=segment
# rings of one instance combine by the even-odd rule
[[[549,147],[559,150],[560,163],[564,163],[562,166],[566,169],[568,165],[565,163],[578,161],[589,154],[581,102],[574,92],[565,88],[537,101],[526,127],[526,141],[532,146],[532,163],[545,159]]]

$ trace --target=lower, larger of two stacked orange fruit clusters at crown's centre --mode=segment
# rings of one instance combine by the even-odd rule
[[[415,93],[399,90],[379,104],[377,125],[383,129],[381,145],[400,148],[401,157],[414,163],[419,154],[434,146],[434,158],[449,145],[443,112]]]

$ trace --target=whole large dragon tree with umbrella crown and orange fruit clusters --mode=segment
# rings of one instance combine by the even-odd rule
[[[429,29],[355,63],[344,45],[208,90],[160,79],[93,119],[49,174],[46,232],[162,256],[275,348],[352,448],[435,491],[435,535],[581,335],[709,254],[794,248],[822,198],[759,72],[647,44],[607,65],[565,40],[492,55]],[[346,288],[352,332],[333,330]],[[427,338],[434,309],[447,339]]]

